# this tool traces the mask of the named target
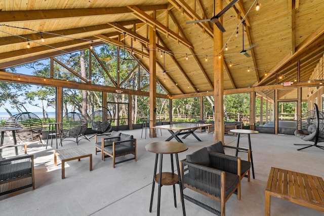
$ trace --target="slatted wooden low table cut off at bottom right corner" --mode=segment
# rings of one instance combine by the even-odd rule
[[[265,189],[265,215],[270,215],[270,196],[324,211],[324,181],[320,177],[271,167]]]

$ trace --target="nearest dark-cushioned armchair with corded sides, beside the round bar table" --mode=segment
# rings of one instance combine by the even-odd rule
[[[238,165],[237,165],[238,164]],[[200,149],[181,160],[184,198],[225,215],[225,202],[237,191],[240,199],[240,158]]]

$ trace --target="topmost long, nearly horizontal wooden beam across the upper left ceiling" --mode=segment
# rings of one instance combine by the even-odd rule
[[[167,10],[167,5],[139,6],[141,11]],[[60,10],[34,10],[34,11],[2,11],[0,24],[15,22],[57,20],[72,17],[91,17],[113,14],[133,13],[128,7],[116,8],[82,8]]]

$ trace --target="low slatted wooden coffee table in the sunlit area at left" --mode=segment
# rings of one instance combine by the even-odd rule
[[[57,165],[57,156],[61,159],[62,161],[62,179],[65,178],[65,167],[64,164],[66,161],[69,160],[76,160],[80,161],[81,158],[84,157],[90,157],[90,171],[92,170],[92,154],[86,153],[84,150],[75,147],[75,148],[69,148],[69,149],[61,149],[61,150],[56,150],[54,152],[54,165]]]

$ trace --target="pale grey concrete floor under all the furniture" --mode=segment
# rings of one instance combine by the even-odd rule
[[[94,140],[83,140],[78,147],[93,154],[93,170],[89,171],[89,158],[73,160],[65,164],[65,179],[61,179],[61,166],[54,166],[53,152],[56,146],[28,144],[27,152],[35,158],[35,190],[31,188],[0,196],[0,215],[156,215],[157,187],[155,187],[152,212],[149,212],[153,153],[145,150],[151,142],[164,141],[168,131],[157,138],[141,139],[141,129],[125,131],[137,139],[138,160],[119,163],[112,168],[111,158],[101,160],[95,155]],[[195,150],[214,143],[213,134],[197,132],[203,140],[193,136],[184,140],[189,149],[179,154],[179,159]],[[324,178],[322,164],[324,151],[308,148],[297,151],[294,143],[306,143],[291,135],[251,135],[255,179],[244,178],[241,182],[241,199],[233,194],[226,202],[226,215],[264,215],[264,191],[271,166],[280,167]],[[236,137],[225,136],[226,145],[235,145]],[[76,147],[70,141],[62,148]],[[240,147],[248,147],[247,136],[241,136]],[[169,157],[164,157],[163,171],[170,171]],[[60,162],[59,162],[60,164]],[[179,186],[176,185],[177,197]],[[177,208],[173,204],[172,187],[161,189],[160,215],[182,215],[180,199]],[[214,215],[185,200],[186,215]],[[324,212],[303,207],[286,200],[271,198],[271,215],[324,215]]]

